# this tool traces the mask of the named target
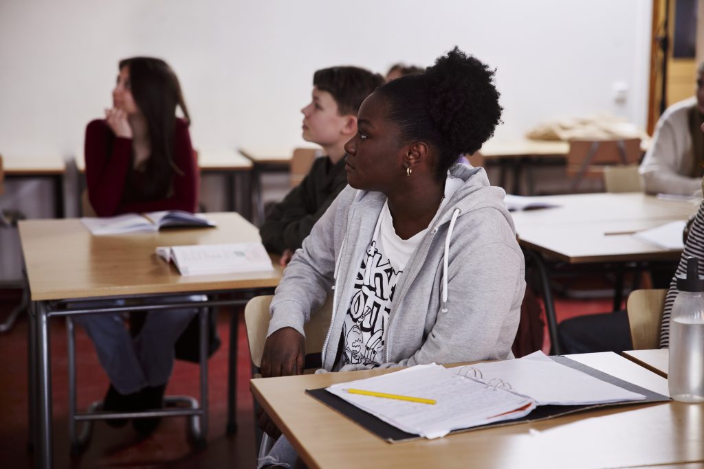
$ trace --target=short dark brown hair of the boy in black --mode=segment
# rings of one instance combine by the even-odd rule
[[[339,115],[357,115],[362,101],[382,84],[381,75],[358,67],[323,68],[313,75],[313,86],[332,95]]]

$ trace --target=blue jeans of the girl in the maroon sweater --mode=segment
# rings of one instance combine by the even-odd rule
[[[202,297],[190,297],[201,299]],[[106,302],[100,303],[102,306]],[[77,316],[95,345],[98,359],[120,394],[146,386],[165,385],[173,368],[174,344],[198,308],[161,309],[146,313],[144,326],[134,339],[120,314]]]

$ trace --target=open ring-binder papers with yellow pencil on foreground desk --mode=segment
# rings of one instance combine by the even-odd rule
[[[356,394],[358,390],[367,394],[434,399],[435,404]],[[339,383],[328,387],[327,391],[404,432],[426,438],[521,418],[537,405],[571,406],[646,399],[643,394],[558,364],[542,352],[522,359],[458,368],[418,365],[396,373]]]

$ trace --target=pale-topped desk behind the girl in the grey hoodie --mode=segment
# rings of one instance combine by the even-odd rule
[[[595,193],[536,197],[558,208],[513,212],[518,241],[527,261],[536,266],[542,285],[553,353],[560,352],[555,309],[546,260],[567,264],[676,262],[678,250],[665,250],[630,234],[606,234],[653,228],[687,219],[696,212],[689,202],[660,200],[642,193]],[[622,276],[619,276],[622,280]],[[614,309],[622,302],[622,285],[615,286]]]

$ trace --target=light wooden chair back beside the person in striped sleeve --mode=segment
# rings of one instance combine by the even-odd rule
[[[665,309],[667,290],[634,290],[628,297],[628,314],[631,341],[634,350],[660,347],[660,323]]]

